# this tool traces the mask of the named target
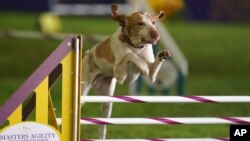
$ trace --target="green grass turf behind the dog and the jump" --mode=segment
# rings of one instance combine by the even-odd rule
[[[0,29],[38,30],[38,14],[0,12]],[[111,34],[118,26],[105,17],[62,17],[63,32]],[[189,61],[186,95],[249,95],[250,25],[175,21],[166,23]],[[0,105],[22,84],[60,41],[0,38]],[[84,49],[93,44],[84,42]],[[118,85],[116,94],[127,94]],[[60,103],[58,86],[53,88]],[[54,94],[55,93],[55,94]],[[93,93],[93,92],[92,92]],[[174,95],[174,94],[173,94]],[[56,106],[60,115],[60,106]],[[86,104],[84,117],[99,117],[99,104]],[[113,117],[250,116],[249,104],[114,104]],[[96,138],[97,126],[82,127],[82,137]],[[228,136],[228,125],[109,126],[109,138]]]

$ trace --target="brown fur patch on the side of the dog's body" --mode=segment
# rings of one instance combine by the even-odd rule
[[[101,42],[96,47],[96,57],[97,58],[103,58],[107,60],[109,63],[115,62],[115,57],[112,53],[111,47],[110,47],[110,38],[106,39],[105,41]]]

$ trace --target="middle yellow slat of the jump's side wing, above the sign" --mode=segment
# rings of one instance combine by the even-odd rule
[[[36,122],[48,124],[49,104],[49,79],[48,76],[35,89],[36,92]]]

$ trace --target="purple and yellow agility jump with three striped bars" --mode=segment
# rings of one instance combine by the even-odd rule
[[[249,117],[152,117],[152,118],[82,118],[80,104],[83,102],[129,102],[129,103],[228,103],[250,102],[250,96],[80,96],[82,39],[68,36],[57,49],[38,67],[23,85],[0,109],[0,125],[4,132],[9,126],[25,122],[35,109],[35,123],[51,126],[57,130],[61,141],[80,141],[80,124],[249,124]],[[84,69],[84,68],[83,68]],[[62,77],[62,117],[57,118],[50,89],[58,77]],[[30,97],[30,98],[29,98]],[[29,98],[28,101],[25,100]],[[1,135],[0,133],[0,135]],[[81,141],[97,141],[82,139]],[[115,141],[115,139],[107,139]],[[228,141],[229,138],[193,139],[117,139],[117,140],[168,140],[168,141]]]

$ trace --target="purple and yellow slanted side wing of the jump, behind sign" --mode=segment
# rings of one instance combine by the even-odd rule
[[[69,35],[1,106],[0,135],[11,126],[27,122],[25,120],[35,109],[35,119],[32,123],[50,126],[59,134],[60,141],[79,141],[81,58],[81,36]],[[59,77],[62,87],[60,126],[56,121],[50,93]],[[5,137],[8,136],[2,136]]]

